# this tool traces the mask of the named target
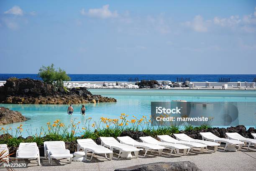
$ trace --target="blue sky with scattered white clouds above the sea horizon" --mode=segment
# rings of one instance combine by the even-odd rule
[[[256,0],[0,0],[0,73],[256,74]]]

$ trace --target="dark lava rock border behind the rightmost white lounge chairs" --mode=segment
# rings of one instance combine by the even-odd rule
[[[200,132],[211,132],[213,133],[215,136],[218,136],[220,138],[225,138],[225,133],[239,133],[241,136],[245,137],[245,138],[253,138],[253,136],[251,135],[251,133],[256,133],[255,128],[251,127],[246,131],[246,127],[243,125],[238,125],[238,126],[231,126],[228,128],[208,128],[208,129],[202,129],[199,131],[180,131],[180,133],[185,133],[188,136],[190,136],[191,138],[195,138],[195,139],[202,139],[202,136],[200,135]]]

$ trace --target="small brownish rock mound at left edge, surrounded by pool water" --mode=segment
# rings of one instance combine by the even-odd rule
[[[0,125],[26,121],[27,118],[18,111],[11,111],[8,108],[0,107]]]

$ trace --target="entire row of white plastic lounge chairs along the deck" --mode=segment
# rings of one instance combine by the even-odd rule
[[[94,154],[105,154],[105,158],[112,160],[113,150],[119,151],[118,158],[138,158],[139,148],[143,148],[143,151],[145,152],[144,156],[146,156],[148,151],[151,151],[152,153],[152,150],[158,151],[159,156],[161,156],[164,149],[169,149],[169,156],[171,156],[173,152],[180,155],[186,155],[189,151],[193,151],[194,148],[200,148],[199,153],[202,153],[204,148],[208,150],[207,147],[209,146],[214,147],[213,151],[215,152],[217,151],[218,146],[220,146],[220,143],[226,144],[224,151],[236,151],[236,146],[239,146],[238,150],[241,150],[242,145],[246,146],[246,143],[248,143],[248,148],[251,144],[254,144],[254,147],[256,147],[256,133],[252,133],[254,139],[244,138],[238,133],[226,133],[228,138],[219,138],[210,132],[200,134],[202,140],[191,138],[184,133],[173,134],[177,139],[168,135],[159,135],[157,138],[160,141],[151,136],[140,137],[142,142],[138,142],[129,136],[117,137],[119,142],[113,137],[100,137],[101,145],[97,145],[95,141],[90,138],[77,139],[77,152],[74,153],[74,156],[79,154],[84,160],[91,161]],[[235,150],[233,148],[235,148]],[[180,153],[180,150],[182,150],[183,153]],[[90,159],[87,159],[88,152],[92,153]],[[134,156],[131,155],[131,152],[134,153]],[[9,162],[9,151],[6,144],[0,145],[0,153],[6,156],[2,159]],[[109,158],[107,157],[107,154],[109,155]],[[65,148],[64,141],[45,141],[44,156],[46,159],[48,158],[49,164],[51,164],[52,158],[68,158],[69,163],[74,160],[73,154]],[[38,165],[40,165],[40,155],[37,144],[20,143],[16,152],[16,162],[21,158],[37,159]]]

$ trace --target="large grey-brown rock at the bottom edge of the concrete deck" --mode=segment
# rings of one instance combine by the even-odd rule
[[[126,168],[118,168],[115,171],[201,171],[200,168],[190,161],[158,162],[141,164]]]

